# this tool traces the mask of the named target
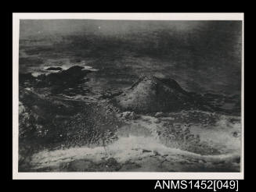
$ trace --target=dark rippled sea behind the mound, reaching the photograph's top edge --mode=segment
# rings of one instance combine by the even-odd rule
[[[56,21],[56,27],[40,22],[21,25],[20,73],[86,65],[99,69],[93,76],[111,87],[153,74],[169,76],[190,91],[240,94],[239,21],[75,21],[74,29],[69,21]]]

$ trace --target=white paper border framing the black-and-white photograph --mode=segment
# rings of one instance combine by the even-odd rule
[[[13,13],[13,180],[243,180],[244,179],[244,43],[242,42],[242,112],[240,172],[18,172],[20,20],[242,20],[238,13]],[[242,29],[244,39],[244,28]]]

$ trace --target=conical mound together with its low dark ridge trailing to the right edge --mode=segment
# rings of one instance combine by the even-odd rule
[[[123,111],[177,112],[180,110],[203,110],[222,114],[239,115],[240,101],[222,94],[197,94],[184,90],[171,78],[142,76],[128,90],[114,98],[114,103]],[[225,102],[235,105],[226,108]],[[237,106],[236,106],[237,105]]]

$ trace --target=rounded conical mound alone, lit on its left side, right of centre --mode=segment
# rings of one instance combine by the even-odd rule
[[[135,112],[171,112],[195,103],[175,80],[156,76],[142,76],[115,99],[121,109]]]

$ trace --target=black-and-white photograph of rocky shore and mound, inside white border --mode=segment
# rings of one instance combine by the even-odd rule
[[[13,34],[17,172],[243,172],[243,20],[44,14]]]

